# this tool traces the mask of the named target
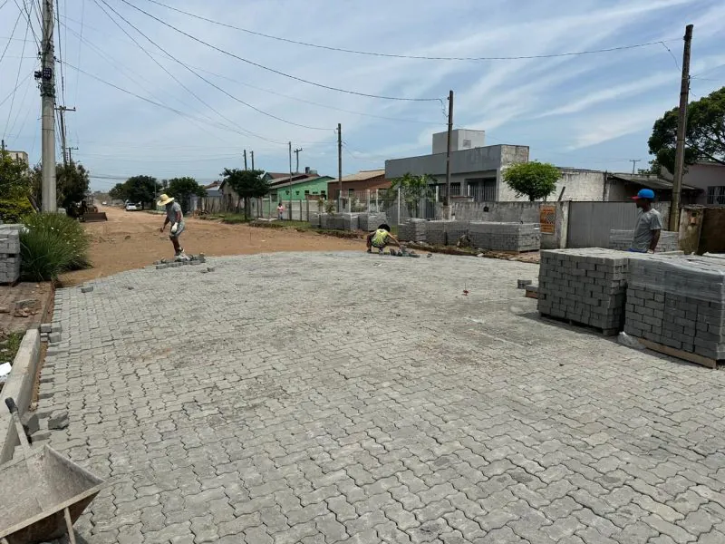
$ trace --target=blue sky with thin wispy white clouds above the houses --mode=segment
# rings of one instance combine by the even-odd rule
[[[37,47],[32,34],[25,37],[22,17],[13,34],[23,1],[0,8],[0,54],[8,45],[0,63],[0,102],[7,98],[0,105],[0,129],[10,149],[28,151],[35,162]],[[445,130],[442,102],[380,100],[301,83],[199,44],[121,0],[105,1],[223,91],[169,59],[102,0],[59,0],[63,60],[84,72],[64,69],[65,104],[77,108],[67,116],[69,145],[79,148],[74,157],[93,175],[103,177],[92,180],[94,189],[134,174],[216,180],[223,168],[243,165],[245,149],[255,151],[257,168],[286,171],[287,141],[303,149],[301,167],[335,176],[338,122],[343,173],[371,170],[382,168],[385,159],[430,152],[430,135]],[[559,166],[626,171],[632,159],[646,166],[652,123],[678,101],[685,24],[695,25],[692,95],[725,85],[725,3],[719,0],[164,0],[260,33],[380,53],[508,57],[664,42],[611,53],[477,62],[326,51],[206,23],[149,0],[129,2],[219,49],[315,83],[418,99],[442,100],[452,89],[457,128],[487,131],[488,144],[528,145],[532,159]],[[32,18],[37,33],[35,13]],[[18,74],[21,84],[13,95]]]

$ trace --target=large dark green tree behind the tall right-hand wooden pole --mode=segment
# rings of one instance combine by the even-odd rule
[[[648,144],[659,164],[674,172],[677,119],[680,108],[654,121]],[[725,164],[725,87],[687,106],[685,164],[711,160]]]

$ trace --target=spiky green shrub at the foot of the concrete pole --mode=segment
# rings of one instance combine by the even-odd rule
[[[58,213],[39,213],[28,216],[25,227],[20,233],[24,279],[50,280],[90,266],[88,236],[78,221]]]

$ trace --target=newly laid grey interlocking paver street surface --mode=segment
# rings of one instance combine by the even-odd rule
[[[86,542],[725,542],[725,374],[540,320],[535,265],[210,260],[57,293]]]

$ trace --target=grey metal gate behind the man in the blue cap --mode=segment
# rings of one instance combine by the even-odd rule
[[[655,202],[666,227],[670,202]],[[637,209],[634,202],[570,202],[566,234],[567,248],[608,248],[609,231],[634,228]]]

